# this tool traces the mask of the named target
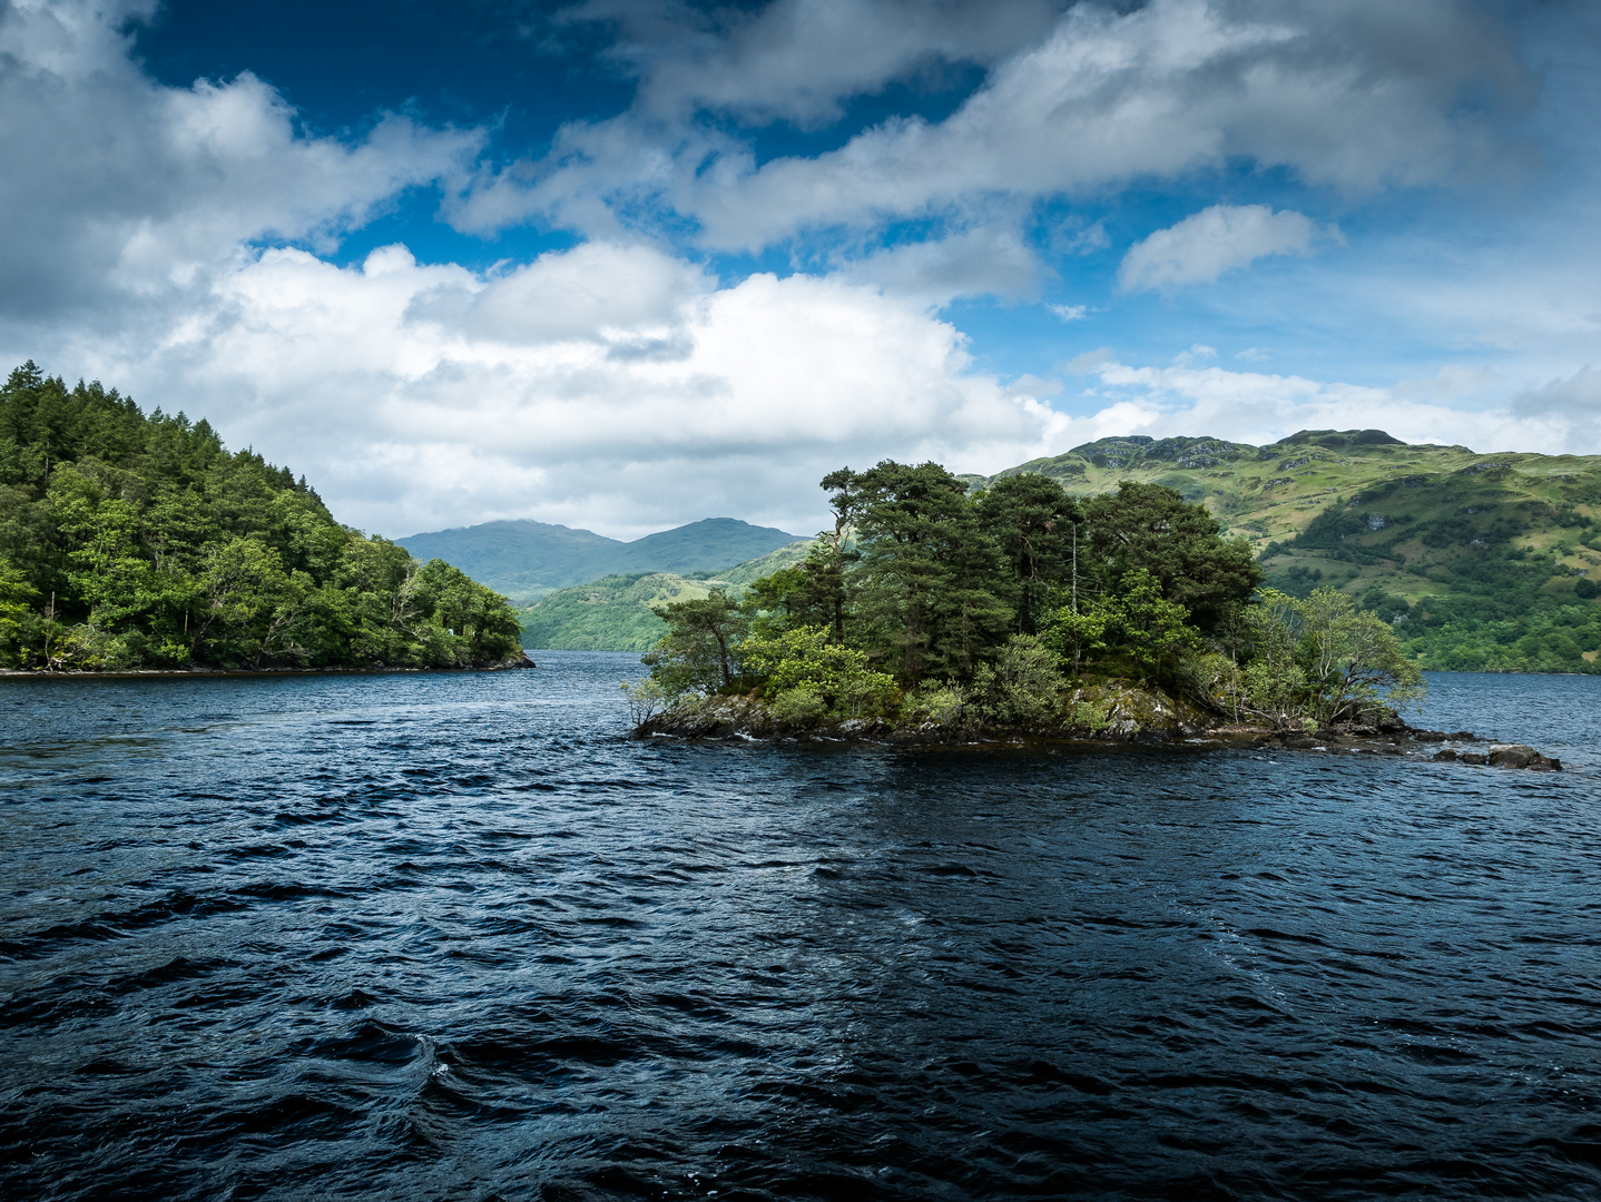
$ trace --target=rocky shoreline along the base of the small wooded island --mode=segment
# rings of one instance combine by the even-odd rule
[[[1085,711],[1085,707],[1090,707]],[[1087,746],[1169,744],[1241,751],[1302,751],[1356,755],[1412,755],[1468,767],[1561,771],[1561,760],[1521,743],[1492,743],[1471,731],[1418,730],[1388,715],[1375,723],[1337,723],[1319,730],[1278,730],[1233,723],[1182,698],[1130,682],[1081,687],[1065,706],[1089,720],[1023,725],[831,719],[794,727],[780,722],[754,696],[706,696],[656,714],[634,738],[770,739],[791,743],[885,743],[895,746],[1005,746],[1074,743]]]

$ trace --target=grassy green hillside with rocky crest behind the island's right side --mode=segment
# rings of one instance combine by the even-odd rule
[[[1101,439],[997,475],[1018,472],[1077,495],[1167,485],[1249,539],[1270,584],[1343,589],[1393,621],[1425,667],[1596,671],[1601,456],[1302,431],[1268,447]]]

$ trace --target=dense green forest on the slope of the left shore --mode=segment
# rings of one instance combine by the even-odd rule
[[[0,667],[461,667],[503,597],[365,538],[202,419],[32,362],[0,391]]]

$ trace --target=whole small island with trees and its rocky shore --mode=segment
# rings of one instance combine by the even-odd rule
[[[1172,488],[972,491],[893,461],[823,488],[834,525],[802,563],[658,608],[650,675],[624,687],[637,735],[1473,743],[1401,720],[1425,682],[1390,623],[1335,589],[1263,587],[1252,547]]]

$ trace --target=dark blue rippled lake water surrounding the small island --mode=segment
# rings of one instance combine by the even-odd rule
[[[639,671],[0,682],[0,1194],[1601,1196],[1601,679],[1436,677],[1534,775]]]

